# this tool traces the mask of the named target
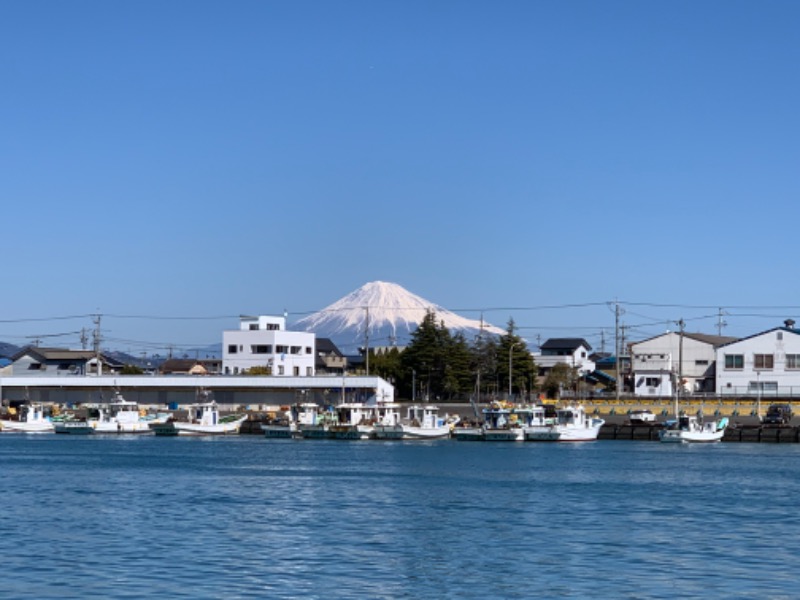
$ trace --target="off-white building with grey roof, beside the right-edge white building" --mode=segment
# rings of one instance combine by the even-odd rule
[[[736,338],[668,331],[635,342],[631,350],[631,378],[637,396],[672,396],[678,377],[684,392],[712,393],[716,381],[716,349]]]

